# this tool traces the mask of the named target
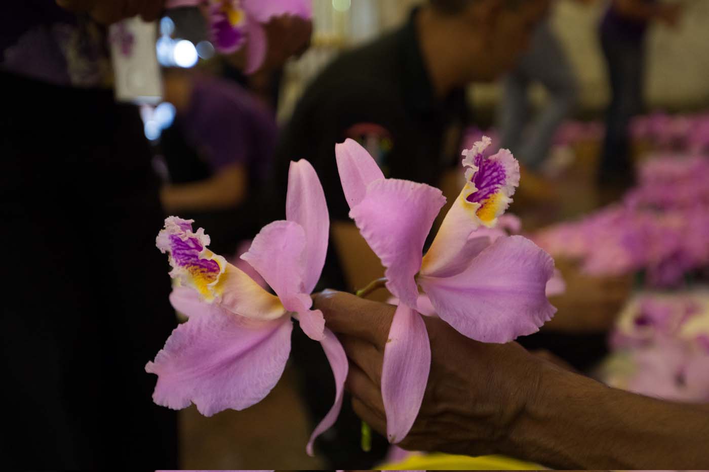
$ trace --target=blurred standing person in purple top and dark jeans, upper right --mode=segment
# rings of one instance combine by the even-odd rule
[[[601,22],[601,46],[608,64],[612,98],[598,181],[613,200],[632,184],[628,125],[642,112],[645,36],[650,23],[676,26],[681,5],[656,0],[612,0]]]

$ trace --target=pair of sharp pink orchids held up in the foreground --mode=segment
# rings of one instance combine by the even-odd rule
[[[507,234],[519,230],[517,220],[503,216],[519,184],[518,163],[507,150],[486,157],[489,145],[484,138],[464,152],[465,184],[425,255],[426,237],[445,203],[441,191],[385,179],[357,142],[335,148],[350,217],[400,300],[381,380],[393,443],[411,429],[428,382],[430,344],[420,314],[437,316],[471,339],[503,343],[536,332],[556,311],[545,295],[554,261],[530,240]],[[254,405],[284,371],[295,318],[322,344],[335,376],[335,404],[311,436],[312,454],[313,440],[340,411],[348,365],[323,313],[311,309],[329,233],[315,169],[304,160],[291,163],[286,220],[265,226],[241,255],[249,270],[211,252],[208,235],[192,223],[167,218],[157,236],[172,266],[170,301],[188,320],[145,368],[158,376],[153,399],[176,409],[195,403],[203,415]]]

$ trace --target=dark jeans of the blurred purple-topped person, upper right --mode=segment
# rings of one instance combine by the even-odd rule
[[[602,31],[601,45],[608,64],[611,100],[598,178],[601,185],[627,186],[633,179],[630,120],[643,111],[644,38],[618,38]]]

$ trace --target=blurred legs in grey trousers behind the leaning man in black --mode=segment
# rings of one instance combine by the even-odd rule
[[[576,1],[588,4],[593,0]],[[527,92],[532,83],[544,86],[547,103],[530,123]],[[530,49],[503,79],[503,98],[498,107],[500,146],[511,150],[523,164],[525,188],[534,185],[537,193],[545,193],[545,186],[548,189],[548,184],[537,180],[537,176],[549,157],[554,133],[574,111],[578,99],[574,69],[553,31],[550,18],[546,18],[537,26]]]

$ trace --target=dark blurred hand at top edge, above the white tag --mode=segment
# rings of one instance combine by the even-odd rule
[[[165,0],[56,0],[57,5],[76,13],[89,13],[104,25],[140,15],[145,21],[160,18]]]

